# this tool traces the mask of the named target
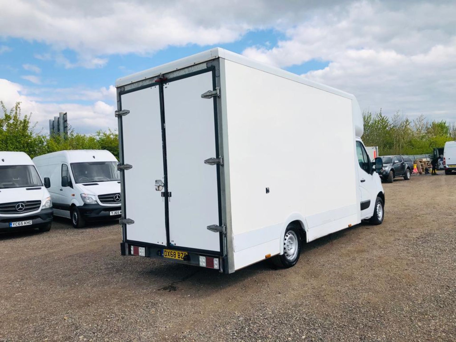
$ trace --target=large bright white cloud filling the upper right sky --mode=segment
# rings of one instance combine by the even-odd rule
[[[362,1],[285,32],[244,55],[278,67],[329,61],[303,76],[355,94],[362,109],[456,121],[456,4]]]

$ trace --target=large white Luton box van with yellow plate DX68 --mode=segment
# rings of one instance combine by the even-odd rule
[[[290,267],[301,241],[383,220],[351,94],[220,48],[116,88],[124,255]]]

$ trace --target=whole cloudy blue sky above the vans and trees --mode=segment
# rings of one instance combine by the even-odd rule
[[[456,1],[0,0],[0,100],[116,129],[115,80],[223,47],[353,93],[362,110],[456,121]]]

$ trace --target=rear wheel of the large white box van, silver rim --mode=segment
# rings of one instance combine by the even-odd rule
[[[287,269],[294,266],[301,254],[301,227],[295,223],[290,223],[285,229],[284,254],[276,255],[271,259],[272,263],[280,268]]]

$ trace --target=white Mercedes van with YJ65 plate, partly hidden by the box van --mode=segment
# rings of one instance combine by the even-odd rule
[[[71,218],[74,228],[86,221],[118,219],[120,178],[117,159],[107,150],[64,150],[33,158],[51,180],[54,215]]]

